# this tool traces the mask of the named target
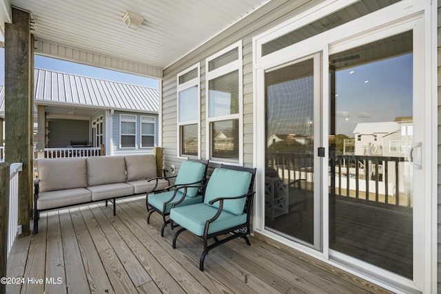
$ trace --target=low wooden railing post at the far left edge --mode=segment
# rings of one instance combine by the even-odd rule
[[[9,165],[0,162],[0,277],[6,277],[8,261],[9,222]],[[6,284],[0,283],[0,294],[6,293]]]

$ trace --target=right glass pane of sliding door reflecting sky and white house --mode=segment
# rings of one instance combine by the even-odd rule
[[[329,56],[329,248],[413,277],[412,32]]]

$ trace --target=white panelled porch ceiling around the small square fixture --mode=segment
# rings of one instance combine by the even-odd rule
[[[37,54],[161,77],[167,65],[268,1],[0,0],[0,21],[9,21],[10,2],[31,12]],[[127,11],[144,17],[138,30],[123,23]]]

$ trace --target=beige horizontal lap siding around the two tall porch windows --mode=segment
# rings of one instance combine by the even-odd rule
[[[170,65],[163,71],[163,157],[165,167],[181,165],[176,158],[177,151],[177,118],[176,118],[176,74],[199,63],[201,67],[201,157],[207,158],[207,138],[205,136],[205,59],[229,45],[242,40],[243,45],[243,162],[245,166],[253,165],[253,58],[252,38],[269,28],[294,17],[300,11],[322,1],[287,1],[273,0],[262,8],[249,14],[245,19],[232,25],[207,43],[187,54],[183,59]]]

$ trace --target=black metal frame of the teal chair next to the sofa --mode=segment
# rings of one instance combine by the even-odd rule
[[[166,187],[165,189],[163,189],[163,191],[170,191],[171,189],[174,189],[174,193],[172,198],[170,198],[170,200],[167,200],[166,202],[163,203],[163,209],[159,210],[156,209],[156,207],[154,207],[153,205],[149,204],[149,194],[147,193],[147,196],[145,197],[145,206],[147,207],[147,211],[148,211],[148,215],[147,215],[147,224],[150,224],[150,216],[152,216],[152,213],[154,213],[155,211],[158,212],[159,214],[161,214],[161,216],[163,217],[163,225],[161,227],[161,237],[164,237],[164,230],[165,227],[167,227],[167,224],[170,223],[170,218],[166,218],[167,216],[170,215],[170,213],[165,213],[165,206],[167,204],[169,204],[170,202],[172,202],[174,200],[174,198],[176,197],[176,193],[179,189],[184,189],[183,192],[183,196],[180,200],[178,200],[176,203],[174,203],[174,205],[178,205],[181,202],[183,202],[183,200],[185,199],[185,196],[187,195],[187,188],[189,187],[189,185],[201,185],[201,186],[197,186],[197,187],[203,187],[203,185],[205,185],[205,180],[207,179],[207,169],[208,169],[208,162],[209,160],[205,160],[205,159],[194,159],[194,158],[188,158],[187,160],[190,161],[196,161],[196,162],[201,162],[205,165],[205,171],[204,171],[204,176],[203,179],[198,181],[198,182],[189,182],[189,183],[185,183],[185,185],[181,184],[181,185],[170,185],[168,187]],[[156,177],[156,178],[151,178],[150,180],[156,180],[156,185],[157,186],[157,182],[158,179],[165,179],[168,180],[170,182],[170,179],[172,178],[176,178],[178,175],[176,176],[169,176],[169,177]],[[149,180],[149,181],[150,181]],[[154,190],[152,190],[154,191]],[[204,191],[200,191],[202,193],[202,195],[204,195]],[[160,191],[155,191],[155,193],[161,193]],[[170,224],[171,229],[174,229],[173,224]]]

